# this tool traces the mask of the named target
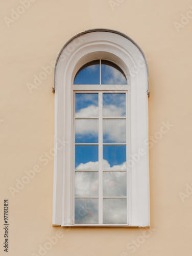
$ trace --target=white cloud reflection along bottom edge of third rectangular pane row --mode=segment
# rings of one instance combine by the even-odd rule
[[[98,170],[98,161],[97,162],[87,162],[87,163],[80,163],[76,169],[77,170]],[[104,170],[126,170],[126,162],[118,165],[110,166],[109,162],[103,159],[103,169]]]

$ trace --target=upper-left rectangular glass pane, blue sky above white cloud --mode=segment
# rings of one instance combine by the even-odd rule
[[[98,93],[76,93],[75,117],[98,117]]]

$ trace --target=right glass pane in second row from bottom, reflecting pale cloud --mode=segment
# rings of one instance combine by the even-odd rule
[[[127,196],[126,172],[103,172],[103,196],[126,197]]]

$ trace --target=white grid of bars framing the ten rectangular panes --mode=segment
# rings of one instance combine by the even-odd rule
[[[104,169],[103,168],[103,147],[104,146],[120,146],[120,145],[123,145],[126,147],[126,163],[127,163],[127,160],[128,160],[128,139],[129,139],[129,136],[128,136],[128,118],[127,118],[127,115],[128,115],[128,91],[105,91],[105,92],[101,92],[101,91],[74,91],[74,102],[76,102],[76,95],[77,94],[80,94],[80,93],[86,93],[86,94],[91,94],[91,93],[98,93],[98,96],[99,96],[99,113],[98,113],[98,117],[93,117],[92,119],[97,119],[98,122],[99,122],[99,137],[98,137],[98,143],[74,143],[74,152],[75,152],[75,146],[78,146],[78,145],[98,145],[98,160],[99,160],[99,169],[75,169],[73,170],[73,173],[75,172],[98,172],[99,174],[99,180],[98,180],[98,189],[99,189],[99,194],[97,197],[76,197],[75,194],[74,194],[74,212],[75,212],[75,201],[79,198],[84,198],[84,199],[98,199],[99,202],[98,202],[98,205],[99,205],[99,209],[98,209],[98,223],[95,223],[94,221],[90,221],[90,223],[86,222],[86,220],[84,220],[84,222],[79,222],[75,221],[74,225],[128,225],[128,215],[129,215],[129,212],[128,212],[128,205],[129,205],[129,195],[128,195],[128,190],[130,189],[129,188],[129,183],[128,183],[128,168],[127,168],[127,164],[126,164],[126,168],[125,169]],[[110,93],[110,94],[125,94],[125,100],[126,100],[126,115],[124,115],[123,117],[103,117],[103,94],[105,93]],[[76,119],[89,119],[90,117],[78,117],[76,118],[75,117],[75,113],[74,113],[74,123],[75,123],[75,120]],[[103,121],[104,120],[113,120],[113,119],[116,119],[116,121],[121,121],[121,120],[126,120],[126,141],[124,143],[122,142],[117,142],[117,143],[103,143]],[[75,131],[75,126],[74,126],[74,131]],[[74,132],[74,138],[75,138],[75,132]],[[74,164],[75,165],[75,164]],[[126,177],[126,185],[127,187],[125,188],[126,189],[126,196],[125,195],[122,195],[122,196],[103,196],[103,182],[105,182],[103,180],[103,177],[104,177],[104,174],[115,174],[116,175],[116,178],[118,178],[118,176],[121,176],[124,175]],[[74,186],[75,186],[75,182],[74,182]],[[113,186],[113,184],[111,183],[111,186]],[[74,187],[74,191],[75,191],[75,187]],[[112,222],[112,219],[111,219],[111,223],[107,223],[106,221],[106,215],[105,215],[105,212],[103,211],[104,210],[104,204],[106,205],[107,203],[107,199],[109,199],[109,201],[114,201],[116,203],[116,205],[118,206],[119,203],[121,202],[118,202],[118,199],[119,200],[123,200],[122,203],[124,204],[124,209],[126,208],[126,220],[125,220],[125,212],[123,214],[124,218],[123,218],[123,221],[121,222],[118,222],[118,223],[115,223],[115,222]],[[114,200],[111,200],[111,199],[114,199]],[[126,205],[125,205],[125,200],[126,200]],[[89,203],[88,203],[89,204]],[[83,206],[85,207],[85,206]],[[94,207],[93,207],[94,209]],[[88,205],[87,206],[87,209],[86,209],[86,212],[92,217],[92,215],[94,214],[93,211],[89,211],[90,210],[90,206]],[[95,209],[94,209],[95,210]],[[89,211],[89,212],[88,212]],[[108,214],[110,212],[110,209],[108,211]],[[104,214],[104,216],[103,216]]]

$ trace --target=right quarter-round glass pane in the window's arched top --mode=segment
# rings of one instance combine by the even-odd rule
[[[101,61],[101,84],[127,84],[124,72],[113,62]]]

